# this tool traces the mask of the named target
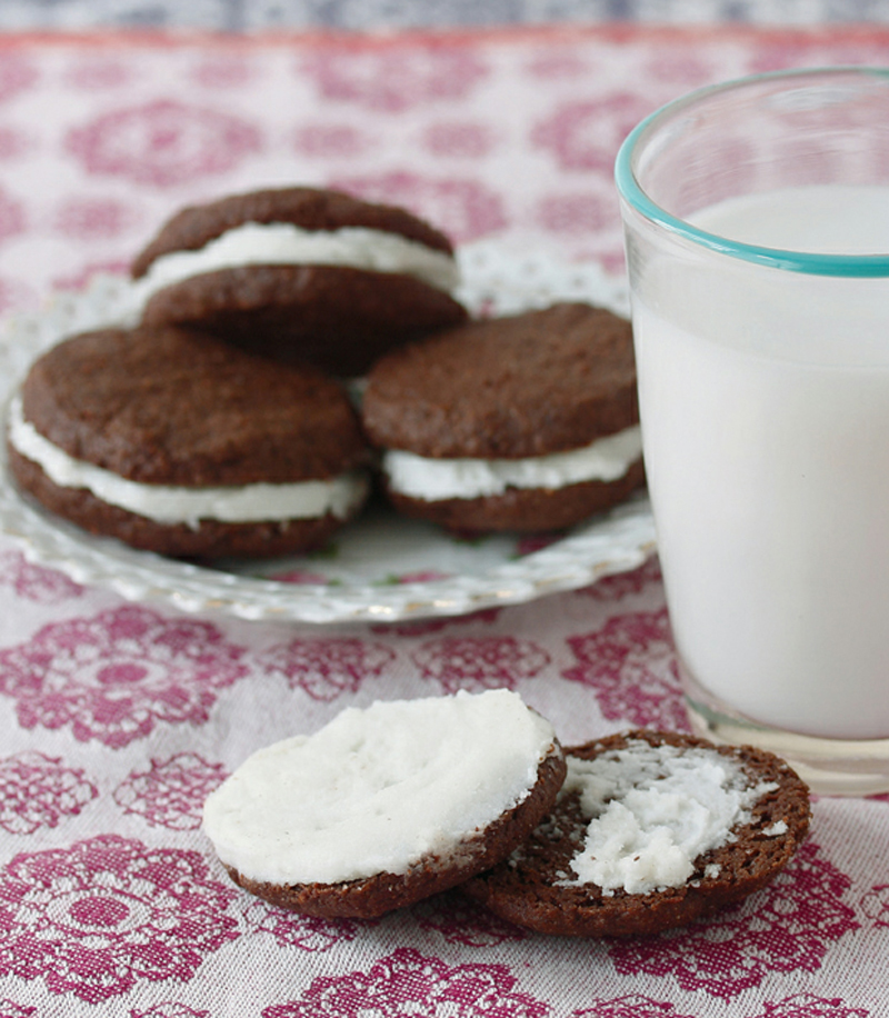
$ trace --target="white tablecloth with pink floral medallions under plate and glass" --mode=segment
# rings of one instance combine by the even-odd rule
[[[174,208],[331,183],[459,243],[621,270],[611,164],[645,113],[882,30],[0,39],[0,308],[121,269]],[[686,728],[657,561],[463,618],[256,622],[132,603],[0,536],[0,1016],[889,1015],[889,800],[815,802],[742,908],[651,940],[531,936],[458,895],[376,922],[234,888],[199,829],[253,749],[347,705],[507,686],[566,742]]]

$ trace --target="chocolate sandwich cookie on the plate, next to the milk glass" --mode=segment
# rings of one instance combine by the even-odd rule
[[[556,305],[382,358],[362,417],[394,507],[455,530],[552,530],[645,480],[630,323]]]

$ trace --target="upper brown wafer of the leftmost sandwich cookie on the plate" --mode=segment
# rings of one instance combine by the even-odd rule
[[[147,483],[331,478],[366,456],[347,396],[320,371],[176,328],[72,337],[32,366],[22,405],[69,456]]]

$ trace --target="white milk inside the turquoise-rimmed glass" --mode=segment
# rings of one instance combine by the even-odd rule
[[[753,194],[695,222],[886,252],[889,189]],[[765,725],[889,737],[889,281],[711,253],[642,271],[645,457],[683,667]]]

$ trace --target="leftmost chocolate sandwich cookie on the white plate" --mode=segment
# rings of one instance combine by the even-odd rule
[[[169,556],[314,547],[368,487],[360,426],[336,382],[174,328],[49,350],[11,402],[8,450],[46,508]]]

